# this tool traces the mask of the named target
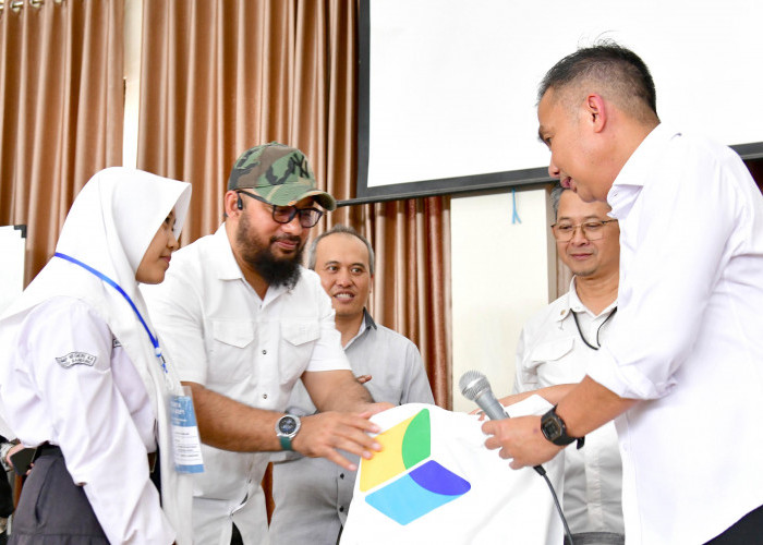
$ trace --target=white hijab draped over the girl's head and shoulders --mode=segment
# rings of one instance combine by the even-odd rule
[[[174,234],[179,235],[190,201],[189,183],[122,167],[101,170],[74,201],[56,252],[69,255],[117,282],[130,295],[152,335],[156,336],[135,271],[172,208],[175,210]],[[157,443],[162,453],[162,509],[178,532],[177,543],[192,543],[192,484],[189,475],[174,471],[167,411],[168,390],[177,393],[181,386],[169,362],[169,373],[165,376],[148,334],[131,305],[113,287],[78,265],[60,257],[51,258],[0,318],[0,365],[8,365],[3,354],[13,350],[10,343],[24,317],[36,305],[59,295],[75,298],[92,306],[109,325],[143,379],[158,423]]]

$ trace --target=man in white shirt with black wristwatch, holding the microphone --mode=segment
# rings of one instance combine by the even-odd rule
[[[538,96],[549,173],[619,220],[617,322],[555,410],[485,423],[486,446],[535,465],[616,419],[629,544],[762,543],[763,196],[731,149],[659,124],[628,49],[566,57]]]

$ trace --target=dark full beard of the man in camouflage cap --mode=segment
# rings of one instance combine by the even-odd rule
[[[302,263],[302,252],[304,251],[302,240],[299,237],[289,235],[271,237],[268,245],[263,245],[250,233],[249,217],[244,214],[239,221],[239,229],[235,233],[235,241],[241,249],[241,258],[269,286],[294,288],[300,279],[300,264]],[[270,245],[279,239],[296,241],[296,252],[292,257],[279,259],[272,254]]]

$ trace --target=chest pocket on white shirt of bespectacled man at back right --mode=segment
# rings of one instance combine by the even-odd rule
[[[533,348],[528,364],[537,375],[540,387],[579,383],[583,379],[584,354],[574,348],[572,337],[549,340]]]

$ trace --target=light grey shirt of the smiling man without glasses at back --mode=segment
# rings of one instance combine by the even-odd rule
[[[372,375],[365,386],[375,401],[434,403],[416,346],[374,323],[367,312],[359,334],[344,347],[344,353],[355,375]],[[291,395],[288,412],[301,416],[316,412],[301,380]],[[358,463],[358,457],[343,455]],[[276,509],[270,521],[271,545],[334,545],[347,520],[355,472],[324,458],[276,461],[279,458],[283,455],[275,455],[272,469]]]

